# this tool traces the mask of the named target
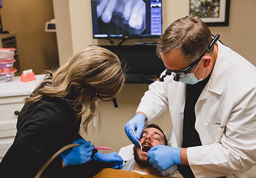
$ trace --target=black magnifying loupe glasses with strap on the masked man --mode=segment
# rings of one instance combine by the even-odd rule
[[[194,67],[197,66],[197,64],[201,61],[201,59],[203,58],[203,56],[213,48],[214,44],[216,43],[216,41],[219,39],[219,34],[217,34],[216,36],[214,36],[213,40],[211,41],[211,43],[209,44],[208,48],[206,51],[204,51],[204,53],[198,57],[198,59],[196,61],[194,61],[190,66],[186,67],[185,69],[182,70],[170,70],[166,67],[166,72],[165,75],[163,75],[161,78],[159,78],[158,81],[163,82],[163,78],[165,78],[167,75],[171,75],[172,73],[175,74],[175,77],[173,77],[173,80],[175,80],[176,82],[180,81],[180,76],[185,76],[186,74],[188,74],[190,71],[192,71],[194,69]]]

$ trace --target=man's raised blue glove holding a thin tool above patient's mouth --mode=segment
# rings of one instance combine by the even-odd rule
[[[139,139],[140,135],[145,126],[146,117],[144,114],[135,114],[134,117],[125,124],[125,133],[131,142],[137,146],[140,146]],[[131,126],[130,126],[130,124]],[[136,135],[132,132],[132,129],[137,130]]]

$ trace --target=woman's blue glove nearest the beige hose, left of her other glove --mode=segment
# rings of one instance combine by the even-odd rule
[[[90,145],[90,141],[86,142],[83,139],[78,139],[73,143],[79,143],[80,145],[60,154],[65,166],[84,164],[91,159],[91,154],[93,154],[94,145]]]

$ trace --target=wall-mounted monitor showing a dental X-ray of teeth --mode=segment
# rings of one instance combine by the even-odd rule
[[[162,34],[161,1],[91,0],[93,38],[159,38]]]

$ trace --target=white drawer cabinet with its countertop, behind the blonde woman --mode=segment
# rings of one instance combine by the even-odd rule
[[[30,82],[21,82],[21,77],[14,77],[9,82],[0,83],[0,161],[13,143],[24,98],[30,95],[44,76],[36,75],[36,80]]]

